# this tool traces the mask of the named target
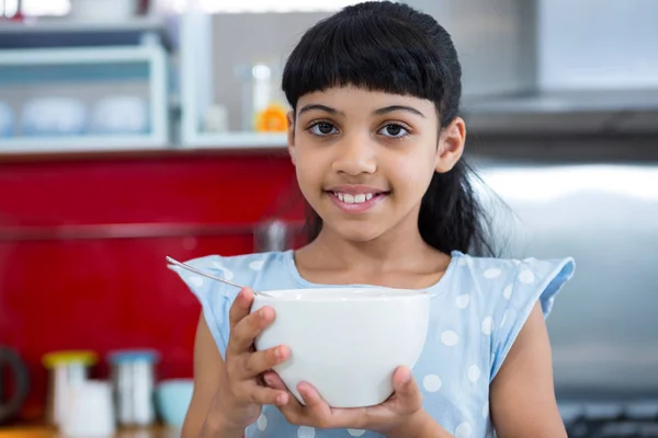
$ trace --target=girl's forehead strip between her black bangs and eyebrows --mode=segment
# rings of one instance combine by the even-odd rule
[[[309,104],[322,104],[345,114],[350,114],[351,112],[363,114],[364,111],[371,113],[392,105],[411,106],[426,114],[431,113],[435,108],[434,103],[427,99],[383,91],[371,91],[351,85],[333,87],[304,94],[297,102],[297,108]]]

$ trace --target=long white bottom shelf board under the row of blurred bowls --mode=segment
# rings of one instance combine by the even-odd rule
[[[146,135],[18,137],[0,139],[0,157],[13,153],[124,151],[166,149],[167,142]]]

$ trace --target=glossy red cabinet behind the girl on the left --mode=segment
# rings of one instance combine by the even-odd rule
[[[164,255],[251,252],[259,221],[302,218],[279,152],[3,160],[0,344],[30,366],[26,417],[42,413],[49,350],[151,347],[160,378],[191,377],[200,307]]]

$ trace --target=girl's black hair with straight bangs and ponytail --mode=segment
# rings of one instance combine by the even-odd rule
[[[430,100],[444,128],[460,113],[462,67],[450,34],[432,16],[406,4],[367,1],[309,28],[283,71],[282,88],[294,111],[300,96],[344,85]],[[469,172],[460,160],[450,172],[434,173],[418,228],[428,244],[444,253],[492,254]],[[310,207],[307,216],[314,240],[322,220]]]

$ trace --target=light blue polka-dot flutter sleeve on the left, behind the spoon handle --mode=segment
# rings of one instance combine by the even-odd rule
[[[185,262],[185,264],[227,280],[234,277],[232,272],[224,266],[223,257],[218,255],[194,258]],[[225,359],[229,337],[228,312],[239,291],[227,287],[220,281],[200,276],[178,266],[169,266],[169,268],[181,277],[190,291],[200,301],[211,334],[217,344],[217,348],[219,348],[222,358]]]

